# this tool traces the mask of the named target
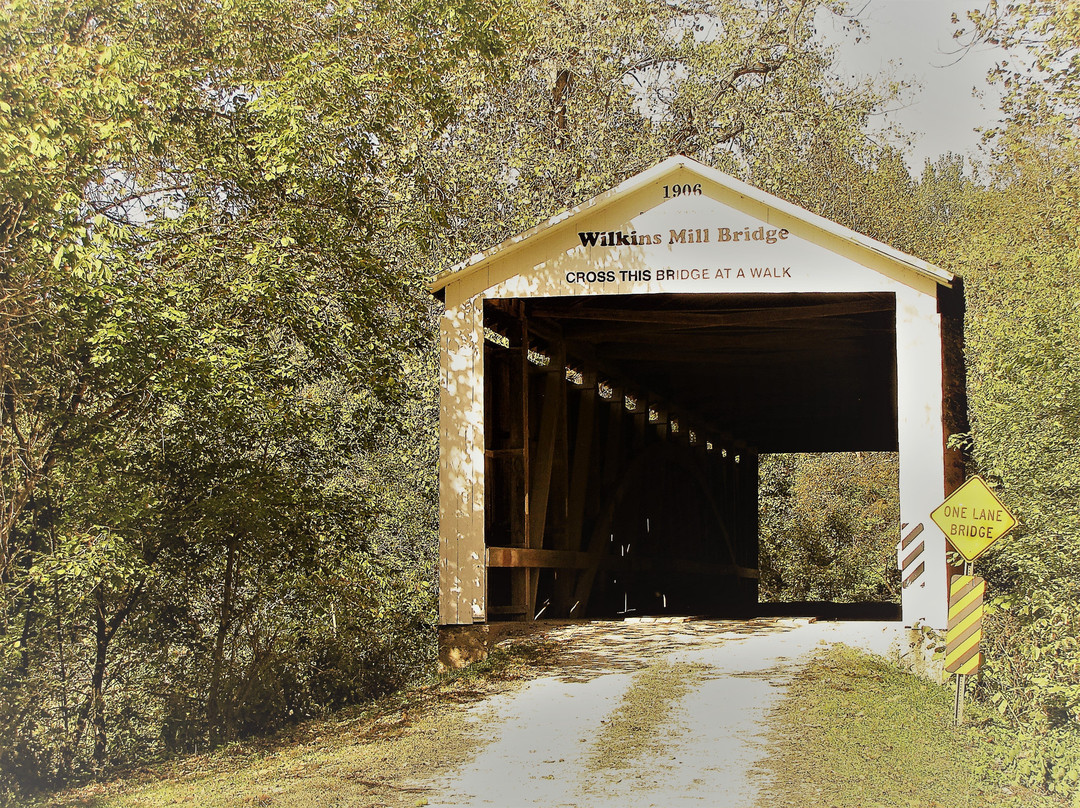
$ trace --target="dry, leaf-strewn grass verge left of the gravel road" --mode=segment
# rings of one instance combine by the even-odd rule
[[[542,671],[556,649],[519,641],[483,662],[325,718],[172,762],[116,771],[32,808],[205,808],[426,804],[414,782],[449,772],[483,744],[462,708]]]

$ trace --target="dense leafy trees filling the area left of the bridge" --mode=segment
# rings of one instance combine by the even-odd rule
[[[431,323],[399,245],[445,76],[516,19],[0,11],[0,790],[433,664]]]

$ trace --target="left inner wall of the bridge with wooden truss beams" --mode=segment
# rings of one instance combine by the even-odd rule
[[[541,614],[573,615],[579,607],[577,614],[585,614],[600,570],[610,570],[620,580],[623,575],[645,580],[670,574],[755,578],[757,570],[740,563],[740,556],[745,555],[738,552],[740,541],[745,540],[742,524],[729,522],[727,502],[716,498],[723,494],[721,499],[727,500],[731,494],[723,485],[716,487],[721,449],[738,450],[744,444],[684,404],[632,383],[631,375],[619,363],[602,362],[589,344],[568,340],[557,323],[530,319],[528,306],[522,301],[491,301],[489,310],[492,331],[505,340],[492,337],[491,341],[516,354],[512,363],[499,365],[499,373],[521,367],[516,377],[521,381],[509,378],[492,388],[501,391],[509,382],[510,392],[502,392],[500,401],[516,412],[509,425],[507,419],[492,421],[500,427],[492,430],[497,442],[487,448],[487,455],[492,462],[502,463],[500,473],[524,475],[511,487],[525,494],[522,513],[495,520],[500,529],[505,530],[509,524],[510,530],[507,541],[496,540],[487,548],[487,566],[507,570],[497,590],[503,594],[491,600],[489,593],[490,614],[535,619]],[[536,352],[549,362],[537,363]],[[515,394],[518,385],[519,404]],[[610,398],[600,395],[602,385],[611,389]],[[600,402],[608,406],[602,407]],[[713,453],[706,450],[707,444]],[[511,464],[517,457],[522,464]],[[714,461],[708,461],[710,457]],[[689,524],[707,530],[702,536],[707,535],[710,547],[700,555],[678,554],[685,550],[673,550],[676,554],[670,555],[663,550],[669,547],[667,539],[660,539],[651,550],[633,556],[611,553],[612,530],[627,529],[620,526],[620,509],[636,507],[636,495],[635,500],[627,500],[629,493],[637,490],[650,470],[662,474],[663,464],[672,458],[681,458],[677,463],[684,467],[683,473],[694,481],[693,513],[700,515],[692,517],[698,522]],[[663,480],[658,476],[656,482],[662,486]],[[491,485],[499,495],[492,504],[496,499],[503,507],[517,501],[505,499],[507,486],[500,477],[492,476]],[[646,515],[643,511],[643,519]],[[653,514],[653,530],[659,515]],[[662,535],[671,530],[676,531],[673,537],[678,535],[675,523],[662,519],[661,524],[667,524],[661,528]],[[671,544],[680,546],[677,540]],[[607,579],[603,583],[609,585]],[[541,587],[543,597],[550,598],[543,608],[538,603]]]

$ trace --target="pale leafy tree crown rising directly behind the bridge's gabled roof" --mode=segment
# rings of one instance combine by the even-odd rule
[[[672,153],[781,193],[796,192],[788,175],[809,181],[816,151],[876,153],[861,125],[888,91],[836,79],[815,37],[815,14],[842,12],[529,0],[497,80],[449,77],[460,115],[421,158],[449,204],[421,258],[444,269]]]

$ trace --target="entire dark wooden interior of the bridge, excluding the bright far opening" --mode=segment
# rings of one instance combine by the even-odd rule
[[[757,601],[757,457],[896,449],[888,294],[485,304],[488,619]]]

